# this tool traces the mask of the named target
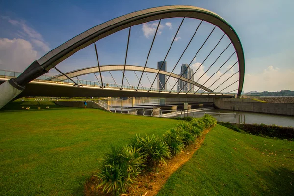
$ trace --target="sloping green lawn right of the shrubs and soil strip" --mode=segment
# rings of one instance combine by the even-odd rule
[[[217,125],[158,194],[215,195],[294,196],[294,142],[242,134]]]

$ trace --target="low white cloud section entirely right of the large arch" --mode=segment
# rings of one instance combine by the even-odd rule
[[[280,69],[270,65],[261,73],[245,74],[243,90],[245,92],[294,90],[293,75],[293,69]]]

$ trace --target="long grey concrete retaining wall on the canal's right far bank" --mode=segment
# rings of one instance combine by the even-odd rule
[[[294,103],[249,102],[245,99],[215,98],[214,105],[219,109],[283,114],[294,116]]]

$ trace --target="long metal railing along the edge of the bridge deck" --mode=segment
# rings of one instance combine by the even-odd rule
[[[4,78],[16,78],[21,74],[21,72],[15,72],[15,71],[10,71],[10,70],[0,70],[0,77]],[[95,81],[89,81],[89,80],[79,80],[79,79],[73,79],[72,80],[82,86],[91,86],[91,87],[100,87],[101,88],[101,83],[100,82],[95,82]],[[64,76],[61,77],[56,77],[56,76],[48,76],[48,75],[42,75],[33,81],[38,81],[38,82],[50,82],[50,83],[59,83],[59,84],[71,84],[74,85],[73,81],[69,79],[64,79]],[[119,84],[111,84],[111,83],[103,83],[103,86],[105,88],[115,88],[115,89],[120,89],[122,85]],[[123,85],[123,89],[127,90],[135,90],[137,89],[137,86],[128,86],[128,85]],[[149,87],[138,87],[139,91],[149,91]],[[153,92],[159,92],[161,89],[157,88],[151,88],[150,89]],[[171,90],[169,89],[163,89],[162,92],[170,92]],[[172,90],[172,93],[178,93],[178,90]],[[181,91],[181,93],[187,93],[187,91]],[[189,93],[195,93],[195,91],[190,91]],[[214,95],[215,93],[209,93],[209,92],[203,92],[203,91],[198,91],[196,94],[212,94]],[[226,92],[220,92],[218,94],[226,94],[226,95],[236,95],[236,93],[226,93]]]

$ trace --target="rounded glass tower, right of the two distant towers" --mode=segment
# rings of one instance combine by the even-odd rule
[[[193,74],[194,74],[194,71],[193,71],[192,68],[188,67],[188,64],[182,64],[181,73],[180,73],[180,75],[182,75],[182,77],[186,77],[186,78],[194,81],[194,75]],[[178,91],[180,91],[182,89],[181,92],[188,92],[193,86],[193,84],[190,84],[190,83],[187,83],[186,85],[185,84],[186,84],[186,82],[184,82],[182,80],[179,80],[178,81]],[[194,91],[194,87],[190,90],[190,92],[191,91]]]

